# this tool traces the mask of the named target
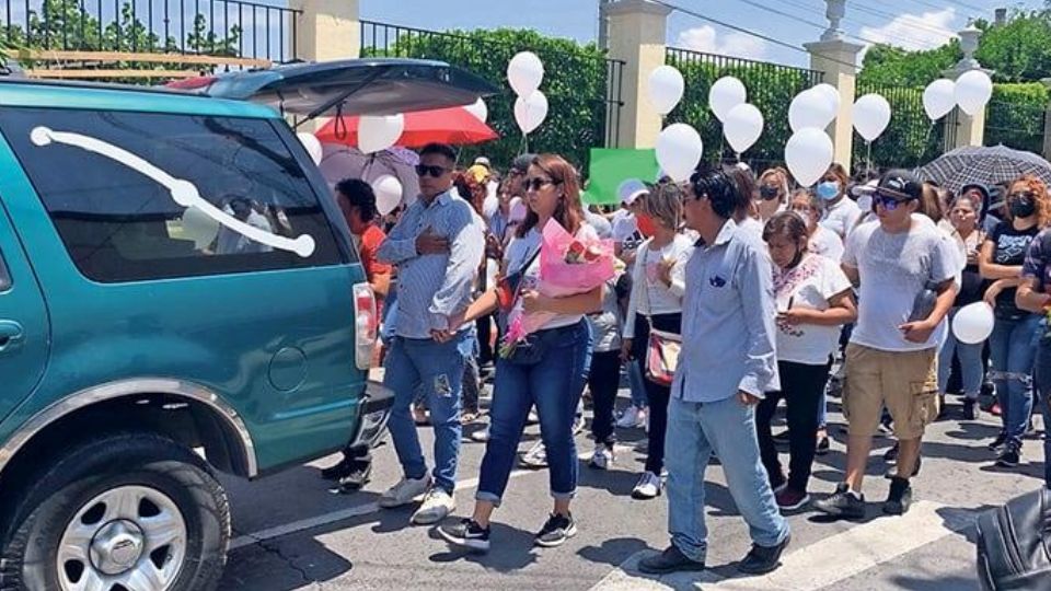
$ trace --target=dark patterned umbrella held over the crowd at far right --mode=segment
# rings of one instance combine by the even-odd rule
[[[1025,174],[1051,184],[1051,163],[1032,152],[1004,146],[968,147],[957,148],[920,169],[921,178],[935,181],[957,193],[972,183],[991,186]]]

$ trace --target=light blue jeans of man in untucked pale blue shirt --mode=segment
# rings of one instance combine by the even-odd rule
[[[730,396],[714,403],[672,397],[668,405],[668,530],[671,543],[693,560],[708,551],[704,523],[704,472],[712,452],[719,456],[730,495],[752,542],[776,546],[788,535],[755,437],[755,407]]]

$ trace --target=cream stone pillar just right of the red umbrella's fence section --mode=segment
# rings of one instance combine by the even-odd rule
[[[648,0],[619,0],[605,5],[610,58],[625,61],[621,125],[616,146],[652,148],[661,118],[648,97],[649,74],[665,63],[671,9]]]

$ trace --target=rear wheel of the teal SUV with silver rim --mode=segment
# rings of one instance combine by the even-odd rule
[[[124,433],[66,452],[18,496],[0,589],[216,587],[230,508],[209,466],[169,439]]]

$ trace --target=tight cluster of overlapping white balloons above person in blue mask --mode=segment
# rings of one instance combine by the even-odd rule
[[[802,186],[817,183],[829,170],[835,148],[825,128],[840,113],[840,91],[818,84],[796,95],[788,105],[792,137],[785,144],[785,164]]]

